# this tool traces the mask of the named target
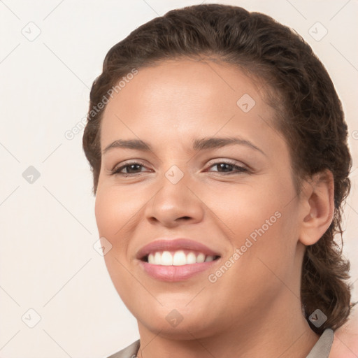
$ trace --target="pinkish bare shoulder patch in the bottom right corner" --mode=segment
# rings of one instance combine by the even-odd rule
[[[358,313],[334,332],[334,341],[329,358],[358,357]]]

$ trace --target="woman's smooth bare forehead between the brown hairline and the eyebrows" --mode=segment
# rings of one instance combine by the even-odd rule
[[[103,113],[101,142],[115,136],[188,138],[267,130],[274,111],[257,83],[231,64],[169,60],[138,69]],[[101,145],[103,148],[103,145]]]

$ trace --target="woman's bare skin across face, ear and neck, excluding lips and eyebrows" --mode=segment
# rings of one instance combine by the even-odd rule
[[[317,174],[296,193],[289,148],[259,87],[229,64],[177,59],[138,69],[106,106],[102,150],[117,139],[152,146],[103,153],[95,205],[99,234],[112,245],[108,272],[138,320],[140,358],[298,358],[319,338],[301,311],[301,263],[305,245],[331,223],[333,178]],[[256,102],[248,113],[236,104],[243,94]],[[192,150],[194,139],[213,136],[240,136],[263,153],[248,145]],[[129,159],[143,167],[110,175]],[[214,165],[228,159],[248,171]],[[184,174],[176,184],[165,176],[173,165]],[[210,282],[275,212],[280,218]],[[162,237],[192,238],[221,257],[188,280],[155,280],[136,252]],[[182,316],[176,327],[166,320],[173,309]]]

